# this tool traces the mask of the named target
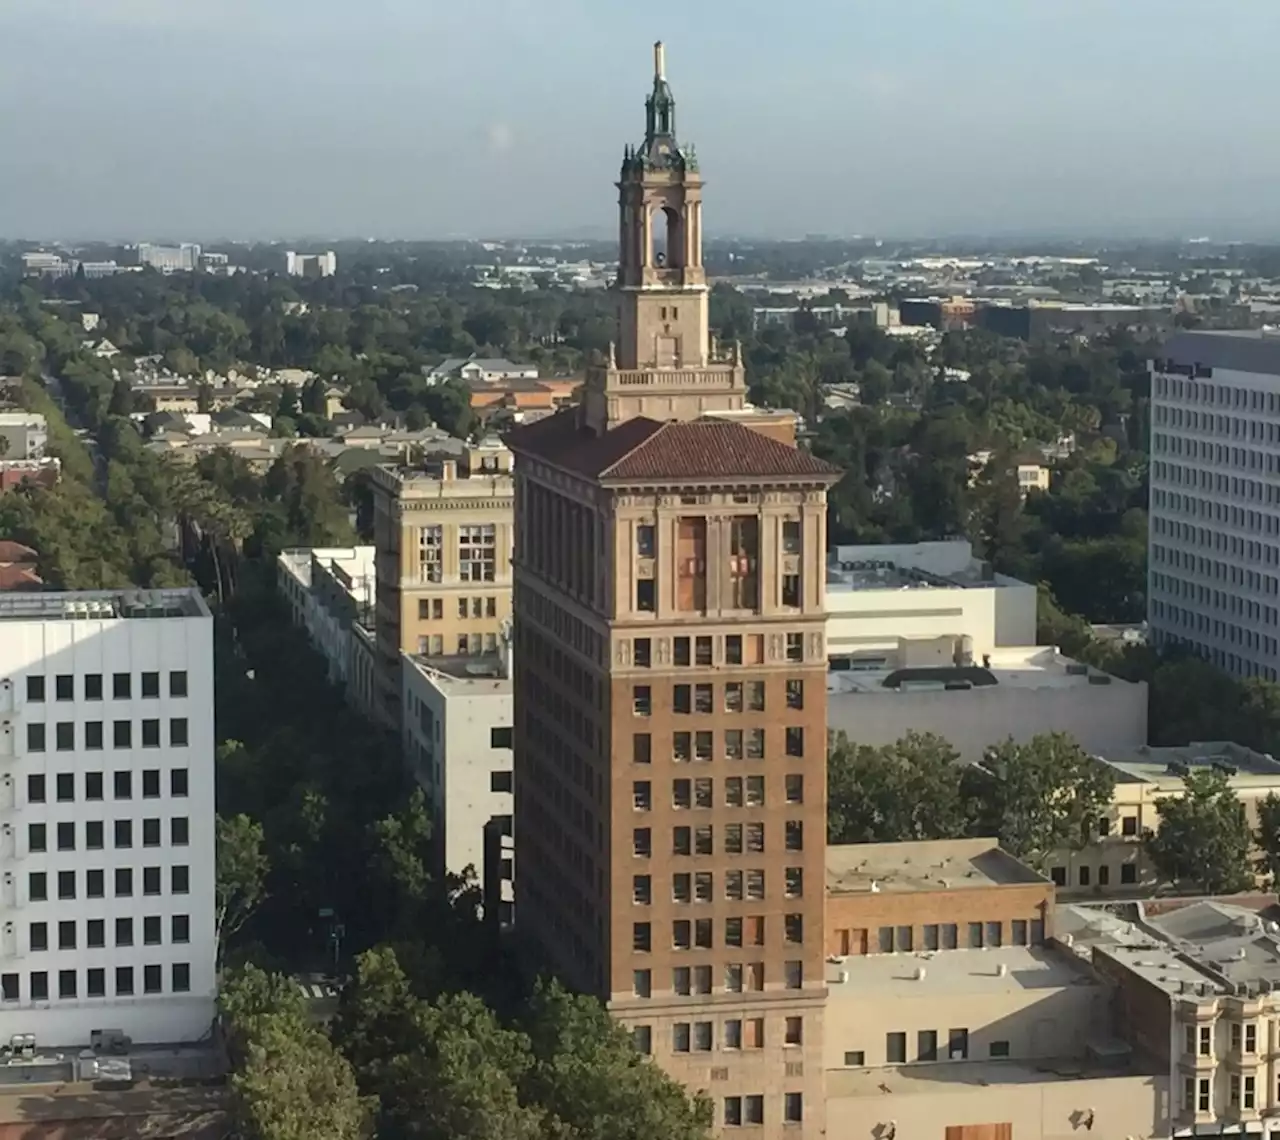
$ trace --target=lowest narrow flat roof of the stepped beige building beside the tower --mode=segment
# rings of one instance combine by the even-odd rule
[[[1094,1056],[1042,1058],[1030,1061],[948,1061],[945,1065],[902,1065],[887,1068],[828,1068],[827,1100],[852,1096],[874,1096],[884,1100],[887,1094],[937,1095],[945,1091],[986,1093],[1000,1095],[1002,1085],[1041,1085],[1057,1081],[1116,1080],[1129,1077],[1149,1081],[1161,1075],[1153,1066],[1126,1053],[1121,1043],[1102,1041],[1093,1048]],[[1115,1063],[1106,1058],[1117,1057]],[[1083,1095],[1083,1094],[1082,1094]],[[891,1116],[886,1104],[886,1116]]]

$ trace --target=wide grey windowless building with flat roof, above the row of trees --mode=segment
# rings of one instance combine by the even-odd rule
[[[950,642],[942,638],[943,651]],[[904,644],[887,663],[827,674],[827,724],[859,745],[909,732],[945,737],[977,761],[1007,737],[1068,732],[1088,752],[1147,742],[1147,686],[1062,656],[1052,646],[996,649],[980,665],[929,661]]]

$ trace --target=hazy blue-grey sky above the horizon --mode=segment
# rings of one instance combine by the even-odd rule
[[[0,235],[1280,237],[1280,0],[0,0]]]

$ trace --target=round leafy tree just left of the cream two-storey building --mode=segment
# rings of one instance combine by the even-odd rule
[[[977,828],[1043,867],[1052,852],[1091,842],[1111,806],[1115,775],[1056,732],[989,748],[980,765],[965,769],[963,787]]]

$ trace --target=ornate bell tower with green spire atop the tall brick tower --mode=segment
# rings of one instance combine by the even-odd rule
[[[589,371],[584,407],[596,431],[628,420],[692,420],[746,400],[741,354],[710,336],[703,269],[703,179],[676,134],[666,50],[653,49],[645,136],[618,175],[618,339]]]

